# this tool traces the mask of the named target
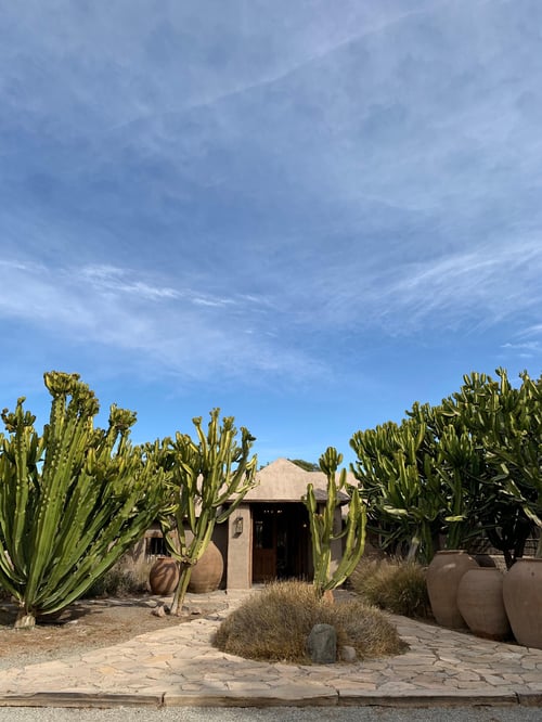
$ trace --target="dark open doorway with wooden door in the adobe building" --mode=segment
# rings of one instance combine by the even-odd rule
[[[253,582],[308,578],[309,515],[304,504],[254,504],[253,529]]]

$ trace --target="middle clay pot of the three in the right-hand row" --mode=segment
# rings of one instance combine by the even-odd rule
[[[468,569],[457,586],[457,607],[468,629],[487,640],[505,640],[512,630],[503,602],[503,573],[494,567]]]

